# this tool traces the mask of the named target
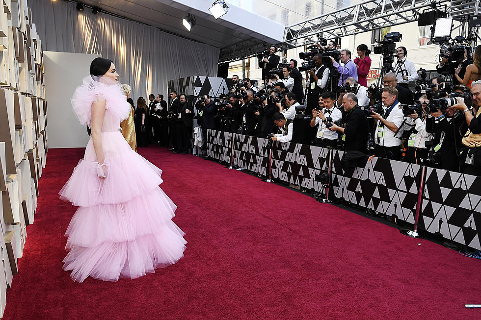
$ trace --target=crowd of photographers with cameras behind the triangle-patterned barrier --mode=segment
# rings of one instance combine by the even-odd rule
[[[396,46],[400,40],[399,33],[388,33],[374,48],[383,65],[370,86],[366,45],[352,60],[351,51],[338,50],[334,41],[318,44],[299,54],[300,65],[294,59],[279,64],[271,46],[258,56],[258,87],[234,75],[227,95],[199,97],[196,118],[204,136],[217,129],[268,138],[269,145],[308,132],[315,146],[347,151],[347,168],[375,155],[481,175],[481,46],[473,57],[469,46],[446,47],[440,75],[427,79],[406,59],[407,49]]]

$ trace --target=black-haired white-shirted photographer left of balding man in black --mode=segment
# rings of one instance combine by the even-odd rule
[[[326,102],[324,103],[323,97],[320,97],[319,107],[312,109],[311,127],[319,125],[314,145],[316,147],[334,148],[339,134],[335,131],[328,130],[326,124],[333,124],[334,122],[341,120],[343,114],[341,110],[334,107],[334,100],[330,97],[329,93],[324,93],[323,95],[328,97]],[[327,119],[329,121],[326,121],[326,117],[330,118]]]

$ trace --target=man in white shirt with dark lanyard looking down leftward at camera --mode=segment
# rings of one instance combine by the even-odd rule
[[[382,89],[383,114],[373,112],[376,123],[374,132],[374,155],[391,160],[401,159],[401,135],[404,115],[398,101],[398,90],[394,87]]]

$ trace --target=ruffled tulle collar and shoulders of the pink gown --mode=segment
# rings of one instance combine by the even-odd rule
[[[103,82],[102,77],[87,76],[83,78],[83,84],[77,87],[70,100],[80,124],[90,126],[94,101],[105,100],[105,109],[120,123],[129,116],[130,104],[125,103],[126,99],[118,83],[108,84]]]

